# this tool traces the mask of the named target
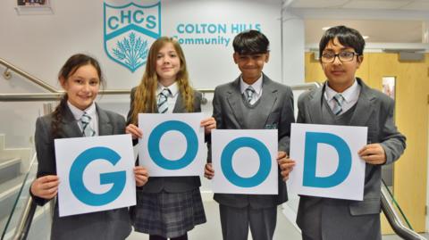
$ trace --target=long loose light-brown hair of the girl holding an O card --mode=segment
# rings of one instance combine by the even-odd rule
[[[158,76],[156,74],[156,56],[161,48],[168,43],[172,43],[174,50],[181,60],[181,68],[177,73],[176,82],[179,85],[183,103],[188,112],[194,112],[194,91],[189,84],[189,73],[181,46],[172,37],[160,37],[150,46],[145,73],[134,93],[133,108],[130,110],[131,123],[133,124],[137,125],[140,112],[156,111],[156,87],[158,82]]]

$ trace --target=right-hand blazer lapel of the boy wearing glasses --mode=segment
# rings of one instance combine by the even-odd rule
[[[360,95],[356,103],[355,112],[350,120],[351,126],[366,126],[366,122],[374,112],[374,95],[369,91],[369,87],[361,80],[357,79],[357,83],[360,85]]]

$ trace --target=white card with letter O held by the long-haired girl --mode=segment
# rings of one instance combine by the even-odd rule
[[[206,165],[203,113],[139,113],[139,165],[151,177],[202,176]]]

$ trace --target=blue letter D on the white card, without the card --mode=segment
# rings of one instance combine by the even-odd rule
[[[338,153],[337,170],[327,177],[316,177],[315,166],[317,144],[332,145]],[[331,133],[307,132],[304,153],[304,186],[332,187],[341,184],[349,176],[351,170],[351,153],[347,143]]]

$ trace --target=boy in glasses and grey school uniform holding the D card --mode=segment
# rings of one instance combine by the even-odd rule
[[[398,160],[406,138],[394,124],[393,100],[355,77],[364,60],[364,47],[365,40],[355,29],[337,26],[326,30],[319,55],[327,81],[323,87],[299,96],[299,123],[368,128],[367,145],[358,152],[366,161],[364,200],[302,195],[297,223],[304,240],[382,239],[382,165]]]

